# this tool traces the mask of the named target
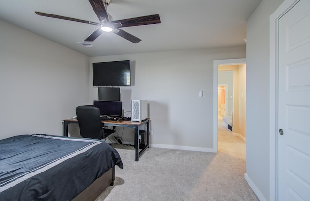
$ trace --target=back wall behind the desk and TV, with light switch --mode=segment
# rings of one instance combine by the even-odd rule
[[[91,57],[89,101],[98,96],[92,63],[129,59],[133,85],[121,87],[123,108],[130,110],[133,99],[149,101],[152,146],[211,151],[213,60],[244,57],[245,47]]]

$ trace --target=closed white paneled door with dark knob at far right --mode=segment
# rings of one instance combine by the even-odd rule
[[[278,51],[278,199],[310,201],[310,0],[279,19]]]

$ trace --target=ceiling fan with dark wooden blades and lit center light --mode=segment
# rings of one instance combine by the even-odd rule
[[[91,25],[97,25],[99,28],[96,29],[89,37],[87,37],[85,41],[94,41],[103,32],[113,31],[116,35],[119,35],[132,43],[138,43],[141,41],[141,39],[137,38],[136,36],[131,35],[130,33],[120,28],[160,23],[159,14],[113,21],[111,15],[107,12],[107,7],[109,6],[112,0],[88,0],[88,1],[92,5],[93,10],[95,14],[97,15],[100,21],[99,23],[81,20],[81,19],[75,19],[71,17],[64,17],[60,15],[55,15],[55,14],[41,13],[37,11],[34,11],[34,13],[40,16],[64,19],[64,20],[69,20],[69,21],[74,21],[74,22],[81,22],[81,23],[86,23],[86,24],[91,24]]]

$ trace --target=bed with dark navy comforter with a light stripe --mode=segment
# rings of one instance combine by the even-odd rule
[[[87,138],[19,135],[0,140],[0,201],[90,201],[123,168],[109,144]]]

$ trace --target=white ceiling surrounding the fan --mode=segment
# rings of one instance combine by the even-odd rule
[[[261,0],[112,0],[113,20],[159,14],[161,23],[122,28],[131,43],[104,33],[84,41],[95,25],[43,17],[33,11],[99,22],[88,0],[0,0],[0,19],[88,56],[245,45],[246,21]]]

